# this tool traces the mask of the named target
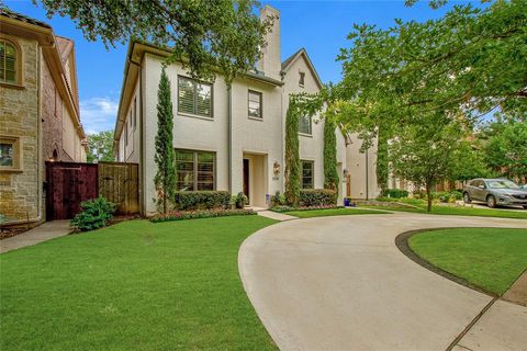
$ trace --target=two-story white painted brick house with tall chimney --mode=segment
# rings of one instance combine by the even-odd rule
[[[264,7],[260,18],[279,12]],[[284,191],[284,127],[289,95],[318,92],[322,82],[305,49],[281,63],[280,20],[267,35],[268,45],[256,72],[237,77],[231,90],[225,80],[197,81],[180,64],[167,68],[171,82],[173,148],[177,190],[226,190],[244,192],[253,206],[266,207],[269,196]],[[169,53],[132,42],[126,55],[124,81],[115,124],[117,161],[139,163],[141,205],[145,214],[156,212],[155,137],[157,91],[161,64]],[[339,203],[347,194],[347,162],[358,146],[348,146],[339,129],[337,162]],[[324,185],[324,121],[302,117],[299,124],[301,186]],[[363,161],[356,157],[357,163]],[[355,160],[355,159],[354,159]],[[354,165],[352,172],[356,170]],[[369,168],[374,179],[374,167]],[[366,172],[366,170],[365,170]],[[362,177],[362,176],[360,176]],[[351,174],[354,179],[354,174]],[[377,185],[372,186],[372,193]],[[351,186],[354,189],[354,186]],[[357,191],[366,196],[366,190]]]

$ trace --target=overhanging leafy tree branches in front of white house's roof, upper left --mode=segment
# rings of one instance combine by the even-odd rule
[[[33,0],[36,3],[36,0]],[[89,41],[106,47],[130,38],[170,48],[194,78],[215,71],[227,82],[255,67],[274,18],[260,21],[255,0],[42,0],[47,16],[70,16]]]

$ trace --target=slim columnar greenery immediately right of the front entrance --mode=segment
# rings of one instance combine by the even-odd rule
[[[300,196],[299,109],[290,99],[285,115],[285,202],[296,206]]]

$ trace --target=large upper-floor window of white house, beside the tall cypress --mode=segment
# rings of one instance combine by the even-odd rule
[[[212,84],[178,77],[178,112],[212,117]]]

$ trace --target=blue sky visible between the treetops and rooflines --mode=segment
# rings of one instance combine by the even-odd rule
[[[75,41],[79,84],[80,116],[88,134],[112,131],[115,125],[126,45],[105,48],[102,42],[89,42],[69,18],[47,19],[45,10],[31,0],[4,0],[13,11],[44,21],[55,35]],[[456,3],[433,10],[426,0],[407,8],[403,0],[281,0],[261,1],[280,11],[282,60],[304,47],[323,82],[340,80],[340,63],[335,58],[339,48],[349,47],[346,36],[354,23],[374,24],[388,29],[394,19],[426,21],[437,19]]]

